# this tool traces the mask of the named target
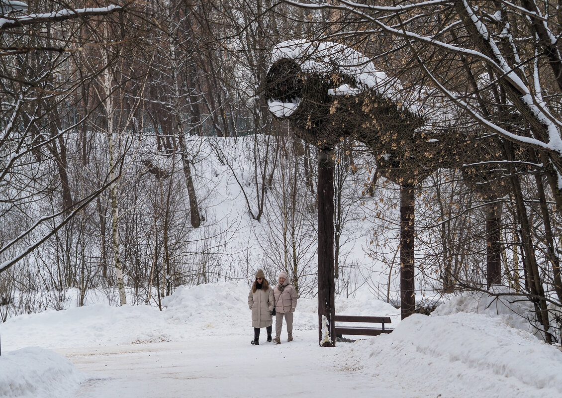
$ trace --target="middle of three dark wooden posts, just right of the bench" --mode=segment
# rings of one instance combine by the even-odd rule
[[[414,313],[414,187],[400,186],[400,313],[402,319]]]

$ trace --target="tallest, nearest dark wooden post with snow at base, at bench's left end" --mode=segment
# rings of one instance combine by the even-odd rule
[[[318,342],[336,346],[334,335],[334,149],[318,151]]]

